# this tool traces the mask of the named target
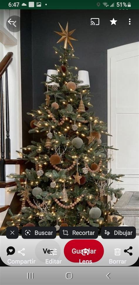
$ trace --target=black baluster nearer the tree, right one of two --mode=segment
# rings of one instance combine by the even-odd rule
[[[5,73],[6,79],[6,159],[11,159],[10,124],[9,124],[9,94],[8,94],[8,71]]]

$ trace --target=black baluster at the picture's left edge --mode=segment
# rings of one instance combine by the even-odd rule
[[[3,88],[2,77],[0,78],[0,95],[1,95],[1,181],[5,181],[5,159],[4,159],[4,105],[3,105]]]

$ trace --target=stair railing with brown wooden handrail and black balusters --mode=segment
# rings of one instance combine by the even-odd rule
[[[11,142],[10,142],[10,124],[9,124],[9,93],[8,93],[8,66],[13,60],[13,52],[8,52],[0,63],[0,100],[1,100],[1,160],[0,160],[0,181],[5,181],[5,145],[6,159],[11,159]],[[5,73],[6,83],[6,142],[4,139],[4,100],[3,100],[3,85],[2,76]],[[5,142],[5,144],[4,144]]]

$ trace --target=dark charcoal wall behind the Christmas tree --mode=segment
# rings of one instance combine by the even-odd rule
[[[38,108],[44,101],[43,75],[47,69],[55,69],[58,62],[53,50],[60,36],[58,22],[65,28],[76,28],[73,37],[75,55],[73,60],[79,69],[89,71],[92,103],[101,120],[107,122],[107,50],[139,41],[138,10],[21,10],[21,73],[23,108],[23,145],[30,141],[27,134],[30,117],[26,111]],[[111,25],[113,17],[116,25]],[[91,26],[90,18],[100,18],[100,25]],[[131,18],[131,25],[128,19]],[[130,68],[130,67],[129,67]],[[25,126],[24,126],[25,124]]]

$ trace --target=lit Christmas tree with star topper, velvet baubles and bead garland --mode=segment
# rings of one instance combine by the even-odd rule
[[[65,30],[60,28],[58,43],[64,41],[64,48],[54,47],[60,64],[54,74],[45,74],[45,103],[28,113],[34,117],[29,133],[43,134],[43,139],[23,148],[23,158],[33,168],[9,175],[22,205],[16,215],[9,210],[7,225],[55,226],[57,232],[60,226],[96,226],[100,233],[102,226],[121,223],[111,200],[122,195],[123,188],[113,189],[112,181],[123,175],[107,168],[114,148],[103,143],[103,136],[110,134],[91,111],[89,86],[83,85],[77,67],[69,66],[77,58],[71,43],[74,30],[68,31],[68,23]]]

